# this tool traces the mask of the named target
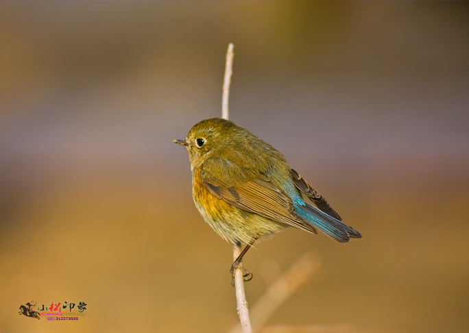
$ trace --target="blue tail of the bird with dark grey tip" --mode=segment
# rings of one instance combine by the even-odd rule
[[[315,208],[310,204],[305,206],[296,206],[295,212],[302,219],[317,227],[321,232],[324,232],[330,238],[337,240],[339,243],[347,243],[350,238],[362,238],[361,234],[346,225],[345,223],[330,217],[325,212]]]

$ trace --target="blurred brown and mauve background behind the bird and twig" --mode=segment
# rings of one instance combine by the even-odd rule
[[[185,138],[221,115],[282,151],[362,240],[287,230],[244,266],[269,325],[468,332],[469,4],[0,3],[0,331],[227,332],[232,246],[191,197]],[[19,316],[85,301],[73,322]]]

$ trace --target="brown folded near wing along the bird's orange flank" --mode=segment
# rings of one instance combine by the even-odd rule
[[[213,175],[203,173],[202,182],[212,195],[237,208],[259,214],[268,219],[292,225],[317,234],[310,223],[294,212],[293,201],[280,188],[269,182],[263,174],[248,182],[227,186]]]

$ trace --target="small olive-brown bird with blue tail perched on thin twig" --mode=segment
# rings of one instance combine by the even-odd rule
[[[204,220],[225,240],[246,244],[231,273],[256,240],[285,227],[312,234],[320,230],[339,243],[362,238],[289,167],[282,153],[232,121],[205,119],[191,128],[186,140],[173,142],[189,152],[192,196]],[[251,275],[243,271],[245,277]]]

